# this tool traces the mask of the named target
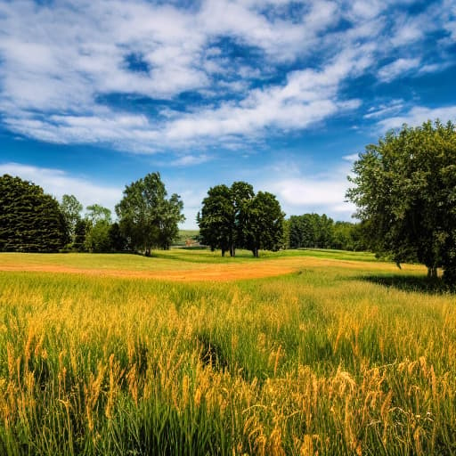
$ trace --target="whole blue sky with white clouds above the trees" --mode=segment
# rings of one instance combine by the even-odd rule
[[[352,220],[354,159],[456,121],[456,0],[0,0],[0,175],[114,209],[159,172],[186,221],[252,183]]]

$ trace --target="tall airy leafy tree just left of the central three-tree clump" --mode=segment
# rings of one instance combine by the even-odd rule
[[[159,173],[151,173],[126,185],[124,198],[116,206],[120,231],[133,248],[151,255],[151,248],[168,248],[185,220],[183,202],[173,194],[167,199]]]

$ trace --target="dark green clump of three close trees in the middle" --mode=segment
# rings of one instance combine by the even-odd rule
[[[235,256],[236,248],[248,248],[258,256],[260,248],[283,246],[283,218],[272,193],[255,195],[249,183],[235,182],[208,190],[197,221],[202,243],[212,250],[220,248],[222,256],[226,251]]]

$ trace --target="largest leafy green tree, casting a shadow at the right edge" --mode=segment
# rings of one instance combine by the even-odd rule
[[[354,163],[346,196],[371,246],[397,264],[419,261],[456,282],[456,131],[430,121],[389,132]]]

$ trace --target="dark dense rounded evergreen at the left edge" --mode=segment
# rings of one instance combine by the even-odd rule
[[[55,252],[68,242],[59,203],[20,177],[0,177],[0,250]]]

